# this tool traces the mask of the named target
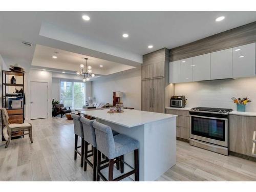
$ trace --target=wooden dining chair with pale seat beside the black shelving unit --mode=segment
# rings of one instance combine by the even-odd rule
[[[31,141],[31,143],[33,143],[32,124],[31,123],[21,123],[21,124],[12,123],[12,124],[10,124],[8,121],[9,115],[5,108],[1,109],[1,114],[2,114],[2,119],[3,119],[3,124],[7,127],[7,131],[8,131],[8,140],[6,141],[5,148],[8,147],[8,145],[13,137],[19,137],[19,136],[24,136],[24,135],[29,135],[30,141]],[[19,131],[23,132],[23,134],[22,135],[14,135],[15,132],[19,132]]]

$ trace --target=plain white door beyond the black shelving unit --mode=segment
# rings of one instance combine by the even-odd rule
[[[48,117],[48,83],[30,82],[30,119]]]

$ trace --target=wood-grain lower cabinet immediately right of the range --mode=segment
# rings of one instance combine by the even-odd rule
[[[256,117],[229,115],[229,151],[251,156]]]

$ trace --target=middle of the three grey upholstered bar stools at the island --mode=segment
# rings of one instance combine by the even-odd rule
[[[93,127],[93,120],[81,117],[80,121],[82,122],[82,127],[83,127],[83,139],[85,142],[85,147],[84,147],[84,165],[83,165],[83,170],[87,170],[87,164],[89,164],[93,168],[93,181],[96,181],[96,168],[97,168],[97,143],[96,143],[96,137],[95,137],[95,130]],[[113,131],[113,135],[117,135],[118,133]],[[89,154],[88,152],[88,145],[91,144],[93,148],[93,154]],[[88,157],[91,157],[93,155],[93,163],[89,161]],[[101,156],[100,156],[101,157]],[[100,158],[99,157],[99,158]],[[117,163],[117,169],[120,167],[120,160],[121,157],[118,157],[119,161],[116,161]],[[108,158],[105,158],[105,160],[99,162],[99,164],[104,164],[106,162],[109,162]],[[106,166],[106,165],[104,165]],[[121,170],[123,170],[123,164],[121,164]]]

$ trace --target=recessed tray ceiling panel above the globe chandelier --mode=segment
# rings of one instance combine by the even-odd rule
[[[57,52],[57,54],[55,52]],[[57,58],[54,59],[52,58],[52,56],[57,56]],[[96,75],[112,74],[114,73],[114,68],[117,69],[119,72],[134,68],[132,66],[122,65],[116,62],[42,45],[36,45],[32,60],[32,67],[36,66],[52,71],[65,71],[67,73],[74,74],[74,71],[80,70],[80,64],[84,64],[84,66],[86,65],[84,58],[88,58],[87,66],[91,66],[93,73]],[[103,67],[100,67],[100,65],[102,65]]]

